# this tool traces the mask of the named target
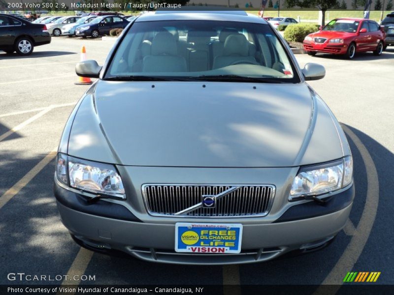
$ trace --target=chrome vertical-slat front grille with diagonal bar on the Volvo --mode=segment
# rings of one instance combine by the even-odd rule
[[[202,207],[203,195],[218,195],[216,206]],[[144,184],[142,194],[149,214],[173,217],[254,217],[268,214],[273,185]]]

